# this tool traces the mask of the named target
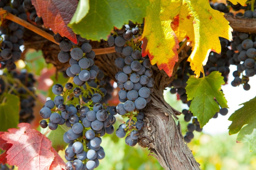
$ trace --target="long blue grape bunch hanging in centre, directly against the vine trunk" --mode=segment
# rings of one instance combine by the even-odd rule
[[[138,131],[144,126],[144,113],[140,110],[151,101],[150,94],[155,83],[151,78],[153,71],[149,58],[142,58],[142,42],[134,41],[142,31],[143,24],[130,21],[121,29],[115,29],[106,41],[109,46],[115,45],[116,52],[124,56],[115,60],[115,66],[120,69],[115,79],[120,88],[119,100],[122,102],[116,106],[116,112],[129,120],[119,126],[116,135],[119,138],[126,136],[125,143],[129,146],[135,146],[138,141]]]

